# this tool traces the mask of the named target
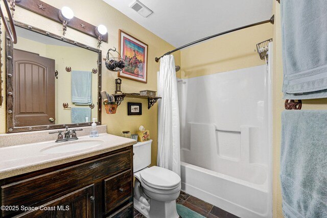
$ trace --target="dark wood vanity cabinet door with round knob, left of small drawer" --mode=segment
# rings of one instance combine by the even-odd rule
[[[95,217],[94,204],[94,184],[92,184],[15,217],[89,218]]]

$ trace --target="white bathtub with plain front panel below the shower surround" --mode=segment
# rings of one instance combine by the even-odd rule
[[[181,162],[181,189],[242,218],[271,217],[268,181],[254,184]]]

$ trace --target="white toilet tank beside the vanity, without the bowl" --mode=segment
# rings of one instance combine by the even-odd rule
[[[137,142],[133,145],[133,172],[137,172],[151,164],[151,143],[152,139]]]

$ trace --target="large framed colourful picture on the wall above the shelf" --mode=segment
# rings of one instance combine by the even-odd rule
[[[120,54],[125,68],[118,76],[147,83],[148,45],[133,36],[119,30]]]

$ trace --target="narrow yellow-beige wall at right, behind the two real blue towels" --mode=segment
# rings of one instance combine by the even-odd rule
[[[273,63],[273,217],[284,217],[282,213],[281,181],[279,180],[279,159],[281,157],[281,113],[284,111],[282,94],[283,61],[281,38],[281,8],[273,0],[274,24],[274,63]],[[302,100],[301,110],[327,110],[327,98]]]

